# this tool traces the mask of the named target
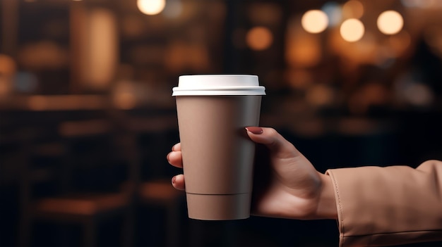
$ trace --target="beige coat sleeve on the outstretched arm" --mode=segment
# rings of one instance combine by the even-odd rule
[[[335,186],[340,246],[442,241],[442,162],[326,172]]]

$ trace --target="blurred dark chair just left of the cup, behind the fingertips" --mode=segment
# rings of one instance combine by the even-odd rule
[[[126,115],[125,119],[128,132],[137,139],[138,160],[143,164],[141,166],[144,166],[140,168],[144,168],[147,170],[144,173],[148,173],[145,177],[140,177],[136,191],[137,202],[140,205],[165,210],[165,246],[178,246],[184,193],[172,186],[171,174],[167,172],[167,168],[171,166],[166,160],[174,139],[169,133],[178,138],[177,119],[169,115]]]

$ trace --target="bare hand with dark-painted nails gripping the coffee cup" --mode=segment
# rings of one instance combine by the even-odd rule
[[[268,162],[256,163],[255,167],[254,215],[300,220],[338,218],[333,184],[328,175],[316,171],[309,160],[275,129],[246,129],[250,139],[256,144],[263,144],[268,153]],[[257,152],[257,155],[262,153]],[[181,144],[172,147],[167,160],[175,167],[182,167]],[[184,190],[184,175],[174,176],[172,185]]]

